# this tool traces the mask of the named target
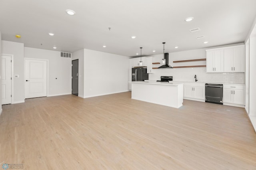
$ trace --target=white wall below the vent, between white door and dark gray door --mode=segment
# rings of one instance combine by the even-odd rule
[[[24,57],[48,60],[47,96],[71,94],[71,58],[60,57],[60,51],[30,47],[24,47]]]

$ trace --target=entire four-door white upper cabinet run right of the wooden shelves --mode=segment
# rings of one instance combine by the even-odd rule
[[[207,49],[206,72],[244,72],[244,45]]]

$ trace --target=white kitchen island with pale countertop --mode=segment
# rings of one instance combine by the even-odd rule
[[[132,81],[132,99],[179,108],[183,103],[183,83]]]

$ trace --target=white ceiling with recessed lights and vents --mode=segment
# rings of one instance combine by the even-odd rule
[[[140,47],[142,56],[161,54],[162,42],[169,53],[244,42],[255,7],[256,0],[1,0],[0,31],[2,40],[25,47],[136,57]],[[191,33],[194,28],[201,31]]]

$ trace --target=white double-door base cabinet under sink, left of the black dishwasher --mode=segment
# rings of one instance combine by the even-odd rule
[[[205,101],[205,83],[184,83],[184,99]]]

